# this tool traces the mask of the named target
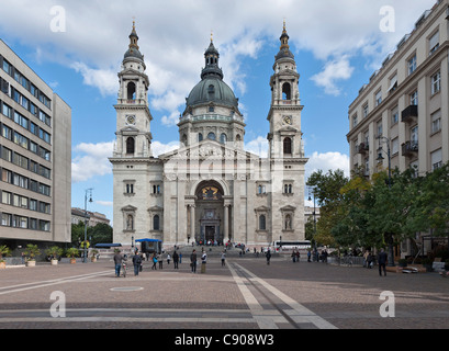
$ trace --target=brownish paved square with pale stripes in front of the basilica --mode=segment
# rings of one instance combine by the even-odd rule
[[[184,262],[151,271],[145,262],[138,276],[115,278],[110,261],[1,270],[0,328],[449,328],[449,279],[436,273],[379,276],[282,257],[267,265],[252,256],[224,268],[211,258],[200,271]],[[393,293],[394,309],[383,292]]]

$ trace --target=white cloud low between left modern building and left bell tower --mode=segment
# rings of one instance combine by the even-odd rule
[[[97,176],[111,174],[112,165],[108,158],[112,156],[113,145],[113,141],[77,145],[71,161],[71,181],[78,183]]]

